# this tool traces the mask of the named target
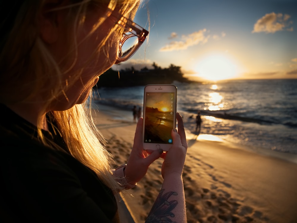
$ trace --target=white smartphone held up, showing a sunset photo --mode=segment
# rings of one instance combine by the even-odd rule
[[[143,148],[163,149],[172,146],[171,131],[176,128],[177,87],[146,85],[143,95]]]

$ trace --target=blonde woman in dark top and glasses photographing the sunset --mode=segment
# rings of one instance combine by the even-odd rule
[[[131,21],[138,4],[24,0],[1,6],[1,222],[119,222],[115,195],[134,187],[159,157],[164,182],[147,222],[159,218],[165,204],[167,222],[186,222],[181,116],[164,154],[143,152],[140,119],[127,165],[112,170],[86,106],[99,75],[146,38]],[[122,52],[127,31],[139,44]]]

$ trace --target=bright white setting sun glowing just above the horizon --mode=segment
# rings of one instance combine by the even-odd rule
[[[238,66],[230,56],[225,54],[211,54],[199,60],[196,70],[199,77],[206,80],[232,79],[238,76]]]

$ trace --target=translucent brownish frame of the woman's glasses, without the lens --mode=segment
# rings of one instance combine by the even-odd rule
[[[142,28],[132,20],[122,16],[116,23],[117,25],[124,28],[125,31],[129,32],[130,34],[124,34],[120,40],[119,44],[119,54],[116,62],[114,64],[119,64],[121,62],[124,62],[128,60],[132,55],[139,49],[141,44],[145,41],[146,37],[149,35],[149,31]],[[126,50],[125,52],[122,52],[122,46],[124,42],[133,37],[138,37],[138,43],[133,45],[129,50]]]

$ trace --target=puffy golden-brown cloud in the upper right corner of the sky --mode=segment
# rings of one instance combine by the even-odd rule
[[[293,31],[292,21],[290,21],[290,15],[283,15],[282,13],[271,12],[264,15],[254,24],[254,30],[252,33],[275,33],[277,31],[282,31],[284,28],[287,28],[288,31]]]

